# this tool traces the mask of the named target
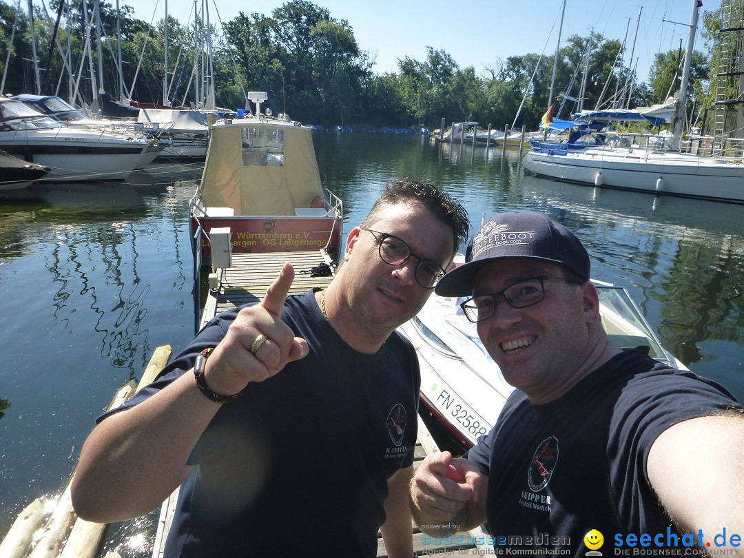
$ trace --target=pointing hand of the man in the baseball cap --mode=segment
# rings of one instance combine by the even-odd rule
[[[488,476],[449,452],[429,455],[411,481],[411,509],[421,530],[446,536],[486,520]]]

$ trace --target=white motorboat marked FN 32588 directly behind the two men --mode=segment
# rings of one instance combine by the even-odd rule
[[[459,261],[464,257],[459,255]],[[620,286],[594,281],[600,295],[600,314],[610,341],[618,347],[649,347],[655,359],[686,369],[668,353]],[[487,434],[513,387],[478,338],[460,304],[463,298],[432,295],[423,309],[398,330],[413,343],[421,371],[422,410],[443,426],[461,450]]]

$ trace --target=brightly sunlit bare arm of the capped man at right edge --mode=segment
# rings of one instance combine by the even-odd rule
[[[744,414],[727,411],[685,420],[651,446],[648,476],[661,504],[683,530],[713,545],[744,525]]]

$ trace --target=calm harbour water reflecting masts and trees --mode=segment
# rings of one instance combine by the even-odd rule
[[[500,148],[487,159],[484,147],[336,132],[315,147],[346,231],[403,175],[446,187],[473,228],[496,211],[550,214],[586,244],[594,278],[629,289],[667,348],[744,400],[744,206],[536,179],[516,151],[502,164]],[[187,204],[199,176],[158,165],[123,185],[0,199],[0,538],[33,498],[61,492],[94,418],[155,347],[177,352],[193,336]],[[146,556],[153,528],[119,525],[105,551]]]

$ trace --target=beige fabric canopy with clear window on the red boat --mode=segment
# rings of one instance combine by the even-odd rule
[[[235,122],[216,124],[209,134],[200,185],[204,207],[232,208],[236,216],[296,215],[311,207],[325,214],[310,129]]]

